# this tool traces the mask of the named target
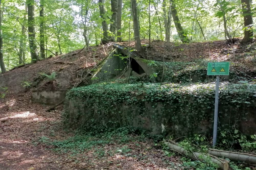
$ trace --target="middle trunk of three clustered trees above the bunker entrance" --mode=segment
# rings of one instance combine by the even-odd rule
[[[116,22],[117,22],[117,10],[118,10],[118,0],[111,0],[111,23],[109,31],[112,32],[110,41],[115,41],[115,32],[116,32]]]

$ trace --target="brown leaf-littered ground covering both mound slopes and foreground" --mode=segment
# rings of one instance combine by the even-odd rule
[[[148,44],[148,41],[143,40],[142,44]],[[225,41],[165,45],[156,40],[146,49],[145,57],[162,61],[165,49],[166,61],[230,61],[236,63],[241,72],[253,76],[256,71],[255,46],[256,43],[228,45]],[[46,112],[47,106],[31,102],[32,90],[43,87],[44,81],[33,84],[28,90],[21,86],[24,81],[34,83],[39,72],[50,74],[55,71],[57,84],[61,88],[72,88],[82,79],[86,66],[93,67],[111,49],[110,44],[90,47],[88,53],[77,50],[0,74],[0,86],[8,87],[5,98],[0,99],[0,170],[188,169],[179,156],[167,156],[163,150],[154,147],[152,139],[143,135],[91,135],[84,137],[86,141],[81,136],[78,140],[79,136],[74,132],[64,130],[61,106]]]

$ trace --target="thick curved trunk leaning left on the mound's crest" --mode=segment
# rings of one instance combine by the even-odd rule
[[[170,0],[170,1],[171,1],[171,10],[172,10],[173,21],[174,21],[176,30],[179,34],[180,40],[183,43],[190,43],[191,40],[189,39],[189,37],[187,37],[185,31],[183,30],[183,28],[180,24],[180,20],[179,20],[178,14],[177,14],[175,2],[174,2],[174,0]]]

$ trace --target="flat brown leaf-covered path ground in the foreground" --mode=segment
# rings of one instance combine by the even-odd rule
[[[130,141],[94,147],[82,153],[58,153],[44,140],[72,136],[61,124],[61,108],[45,112],[45,106],[31,103],[30,94],[8,94],[0,100],[0,169],[184,169],[179,157],[165,156],[153,141]],[[116,148],[129,154],[117,153]],[[95,155],[104,150],[104,156]]]

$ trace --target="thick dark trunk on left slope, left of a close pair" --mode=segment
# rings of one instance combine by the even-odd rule
[[[34,16],[34,0],[26,0],[28,5],[28,40],[31,56],[31,63],[38,61],[37,47],[35,43],[35,16]]]

